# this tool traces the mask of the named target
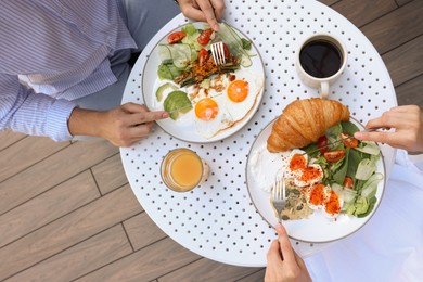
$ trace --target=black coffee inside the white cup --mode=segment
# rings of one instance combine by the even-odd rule
[[[341,51],[326,40],[308,42],[299,52],[303,69],[312,77],[331,77],[339,70],[343,62]]]

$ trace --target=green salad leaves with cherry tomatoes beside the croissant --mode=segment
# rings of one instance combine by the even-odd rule
[[[351,121],[342,121],[326,130],[325,139],[332,143],[341,139],[341,134],[352,136],[357,131],[359,128]],[[320,145],[311,143],[302,150],[311,152]],[[343,200],[344,205],[341,211],[356,217],[368,216],[377,202],[375,196],[377,184],[384,178],[381,172],[376,171],[376,164],[381,157],[380,148],[367,141],[358,141],[354,145],[338,142],[330,146],[328,152],[322,149],[308,156],[312,164],[318,164],[323,169],[323,183],[330,185]],[[342,157],[328,159],[328,154],[334,152],[338,154],[342,152]]]

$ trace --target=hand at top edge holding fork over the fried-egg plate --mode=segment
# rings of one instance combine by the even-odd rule
[[[217,21],[223,16],[223,0],[178,0],[179,8],[188,18],[207,22],[213,30],[219,30]]]

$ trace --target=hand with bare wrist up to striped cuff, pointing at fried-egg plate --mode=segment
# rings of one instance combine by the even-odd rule
[[[74,136],[102,137],[116,146],[130,146],[151,133],[154,120],[168,116],[164,111],[149,112],[144,105],[134,103],[105,112],[75,108],[68,128]]]

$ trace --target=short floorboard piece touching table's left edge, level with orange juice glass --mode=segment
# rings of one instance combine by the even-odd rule
[[[116,154],[99,165],[92,167],[97,184],[101,193],[104,195],[128,183],[124,166],[121,164],[120,154]]]

